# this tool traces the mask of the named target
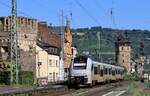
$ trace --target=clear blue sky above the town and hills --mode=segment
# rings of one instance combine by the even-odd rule
[[[150,30],[150,0],[17,0],[18,16],[60,25],[70,18],[72,28],[102,26]],[[111,14],[112,10],[112,14]],[[0,16],[11,14],[11,0],[0,0]]]

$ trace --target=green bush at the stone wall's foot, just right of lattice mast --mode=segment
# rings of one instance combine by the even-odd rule
[[[19,84],[22,85],[33,85],[34,74],[30,71],[21,71],[19,72]]]

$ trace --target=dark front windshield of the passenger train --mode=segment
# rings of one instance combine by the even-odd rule
[[[73,68],[75,70],[86,69],[87,57],[77,57],[74,59]]]

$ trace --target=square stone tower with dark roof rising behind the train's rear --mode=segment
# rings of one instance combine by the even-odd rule
[[[131,64],[131,42],[128,40],[127,36],[119,35],[116,45],[116,62],[124,66],[126,70],[130,71]]]

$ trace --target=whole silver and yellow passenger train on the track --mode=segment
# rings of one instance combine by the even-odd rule
[[[93,61],[86,56],[76,57],[70,66],[69,86],[89,85],[122,80],[124,68]]]

